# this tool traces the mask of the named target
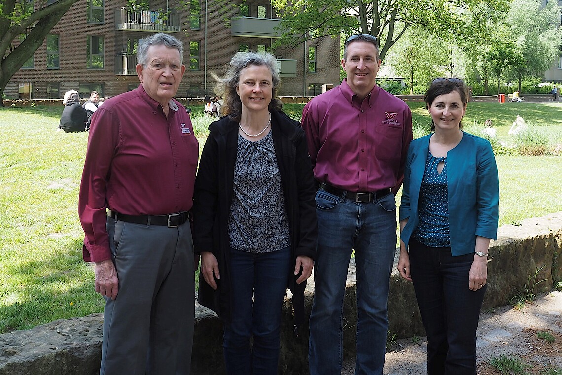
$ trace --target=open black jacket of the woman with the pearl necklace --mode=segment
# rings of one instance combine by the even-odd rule
[[[209,138],[203,148],[195,180],[193,201],[193,242],[196,253],[212,251],[219,263],[220,280],[212,289],[203,275],[199,277],[199,303],[230,321],[231,293],[229,272],[230,237],[228,219],[233,195],[234,164],[237,154],[238,124],[228,116],[209,126]],[[283,112],[271,113],[271,136],[285,195],[289,219],[292,268],[289,285],[293,293],[294,322],[304,321],[306,282],[297,285],[294,262],[299,255],[316,257],[318,222],[314,175],[306,148],[305,133],[297,121]]]

